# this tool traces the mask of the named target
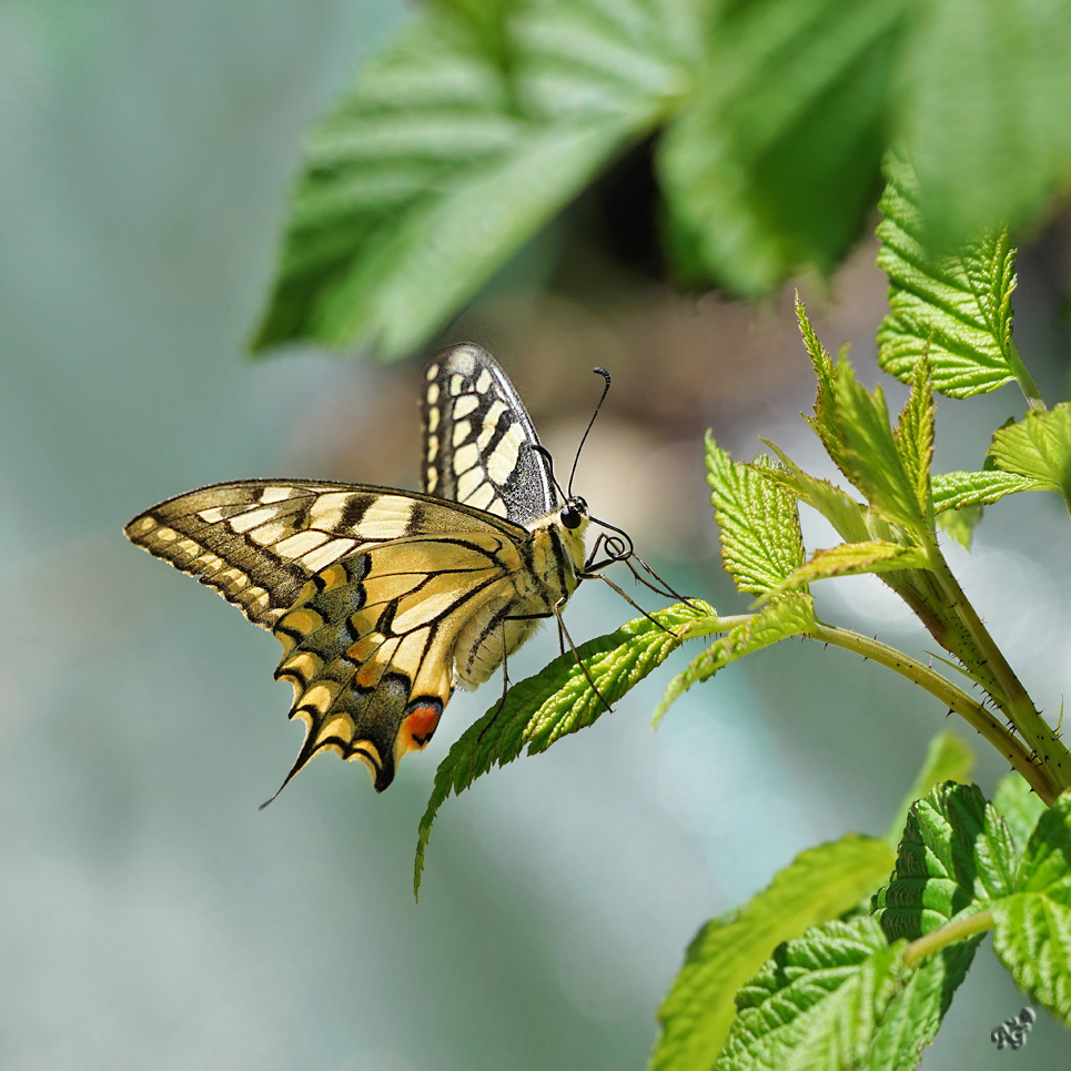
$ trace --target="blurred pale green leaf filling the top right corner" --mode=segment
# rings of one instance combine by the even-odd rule
[[[993,221],[1034,223],[1071,174],[1071,7],[930,0],[902,54],[902,128],[928,230],[958,244]]]

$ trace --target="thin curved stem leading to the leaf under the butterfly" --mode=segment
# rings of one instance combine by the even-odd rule
[[[993,715],[980,703],[972,699],[966,691],[957,688],[948,678],[925,666],[922,663],[905,655],[903,651],[889,647],[870,636],[863,636],[849,628],[838,628],[832,625],[817,624],[808,634],[808,638],[821,640],[845,650],[852,650],[871,661],[891,669],[893,673],[913,680],[920,688],[936,696],[958,714],[971,728],[980,732],[1004,758],[1017,769],[1047,804],[1052,805],[1060,795],[1059,787],[1053,784],[1050,770],[1038,766],[1025,746],[1001,725]]]

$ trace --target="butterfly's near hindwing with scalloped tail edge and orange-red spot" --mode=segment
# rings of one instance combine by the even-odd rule
[[[306,727],[286,780],[329,750],[386,788],[438,725],[458,638],[475,620],[494,629],[517,605],[521,565],[516,540],[485,527],[395,539],[317,573],[274,628],[275,676],[293,684],[290,716]]]

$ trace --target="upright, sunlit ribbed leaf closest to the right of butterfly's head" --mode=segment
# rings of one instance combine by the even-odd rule
[[[804,560],[791,495],[766,476],[769,462],[735,462],[707,433],[707,483],[721,528],[721,562],[740,592],[765,595]]]

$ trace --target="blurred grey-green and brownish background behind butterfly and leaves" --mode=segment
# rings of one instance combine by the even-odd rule
[[[388,0],[0,7],[6,1069],[643,1067],[699,926],[804,848],[883,832],[947,725],[899,678],[789,643],[689,693],[653,734],[686,650],[592,730],[451,800],[420,906],[413,850],[436,762],[497,678],[458,694],[385,796],[324,759],[257,811],[301,738],[272,680],[277,645],[121,529],[220,479],[416,486],[416,358],[244,352],[303,132],[404,17]],[[647,195],[640,153],[441,341],[496,353],[559,458],[597,400],[590,367],[607,366],[577,489],[675,586],[739,612],[701,435],[713,426],[746,457],[761,435],[828,474],[798,415],[809,365],[790,291],[750,307],[675,296],[643,235],[622,247],[615,211]],[[886,292],[873,253],[799,284],[827,346],[850,342],[869,383]],[[1050,402],[1067,396],[1065,275],[1064,235],[1037,236],[1017,339]],[[1022,407],[1012,387],[942,400],[936,467],[979,467]],[[1071,675],[1061,511],[1020,496],[988,512],[970,555],[949,550],[1050,711]],[[929,649],[876,583],[819,596],[828,620]],[[582,640],[632,616],[587,585],[567,619]],[[556,650],[546,630],[515,677]],[[978,756],[988,794],[1003,769]],[[1023,1004],[987,942],[923,1067],[1003,1067],[989,1033]],[[1051,1068],[1065,1052],[1042,1012],[1014,1059]]]

